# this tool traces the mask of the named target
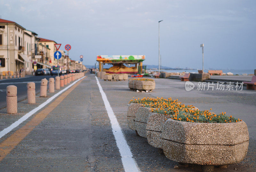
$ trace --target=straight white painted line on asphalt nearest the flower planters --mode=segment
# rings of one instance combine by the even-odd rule
[[[125,171],[140,171],[139,168],[137,167],[136,161],[132,158],[132,152],[130,150],[130,147],[128,146],[128,144],[124,138],[124,134],[123,134],[122,129],[121,129],[119,123],[117,122],[116,116],[108,102],[108,98],[107,98],[106,94],[104,93],[98,78],[96,76],[95,76],[95,78],[97,80],[97,84],[99,86],[102,99],[104,101],[106,110],[108,112],[108,117],[110,119],[112,132],[116,139],[116,145],[117,145],[119,152],[121,154],[121,157],[122,157],[124,170]]]

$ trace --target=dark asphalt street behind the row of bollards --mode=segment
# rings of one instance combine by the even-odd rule
[[[39,75],[39,76],[26,76],[24,78],[14,78],[14,79],[2,79],[0,80],[0,108],[6,107],[6,87],[9,85],[17,86],[17,96],[18,101],[24,100],[27,98],[27,83],[35,82],[36,84],[36,93],[40,92],[40,82],[41,79],[49,79],[51,75]]]

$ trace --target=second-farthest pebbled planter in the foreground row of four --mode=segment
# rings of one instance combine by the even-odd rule
[[[140,107],[136,112],[136,117],[134,119],[135,121],[135,127],[138,132],[138,134],[141,137],[147,138],[147,122],[148,122],[148,116],[151,114],[150,108],[146,107]]]

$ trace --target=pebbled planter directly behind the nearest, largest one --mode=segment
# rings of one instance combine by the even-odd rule
[[[167,119],[167,116],[163,114],[157,114],[151,112],[148,116],[147,122],[147,139],[148,144],[157,148],[161,148],[161,135],[164,127],[164,123]]]

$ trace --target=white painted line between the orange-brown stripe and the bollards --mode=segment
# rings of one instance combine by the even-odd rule
[[[85,77],[85,76],[84,76]],[[26,115],[22,116],[18,121],[12,123],[9,127],[5,128],[4,130],[0,131],[0,138],[2,138],[5,134],[7,134],[8,132],[12,131],[15,127],[17,127],[18,125],[20,125],[23,121],[25,121],[26,119],[28,119],[31,115],[35,114],[38,110],[40,110],[41,108],[43,108],[45,105],[47,105],[48,103],[50,103],[53,99],[55,99],[58,95],[60,95],[61,93],[63,93],[64,91],[66,91],[68,88],[70,88],[71,86],[73,86],[74,84],[76,84],[77,81],[83,79],[84,77],[74,81],[72,84],[70,84],[69,86],[67,86],[66,88],[64,88],[63,90],[59,91],[58,93],[54,94],[52,97],[50,97],[49,99],[47,99],[44,103],[42,103],[41,105],[39,105],[37,108],[34,108],[33,110],[31,110],[30,112],[28,112]]]

